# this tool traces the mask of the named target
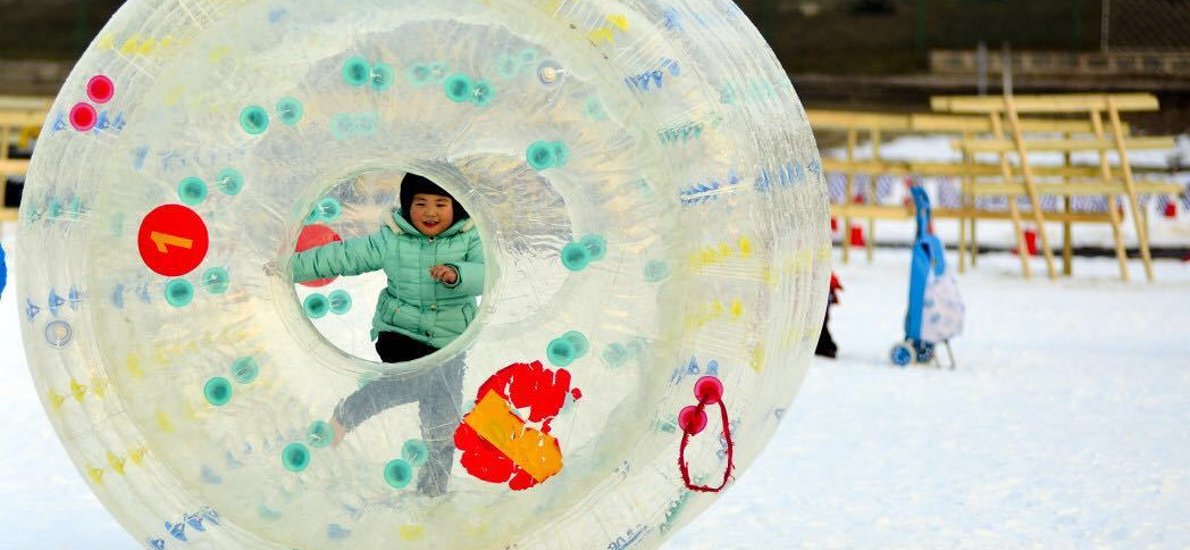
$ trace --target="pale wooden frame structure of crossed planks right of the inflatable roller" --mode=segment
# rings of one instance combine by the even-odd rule
[[[846,176],[844,202],[832,205],[832,215],[841,217],[847,227],[852,219],[869,221],[868,255],[871,258],[872,233],[876,219],[912,219],[913,211],[902,206],[860,205],[853,201],[856,176],[868,174],[869,185],[878,175],[913,175],[925,177],[959,177],[962,180],[962,206],[959,208],[935,208],[934,217],[959,220],[959,270],[965,271],[967,256],[971,265],[977,261],[977,221],[981,219],[1008,219],[1013,223],[1015,246],[1021,260],[1022,274],[1032,275],[1029,256],[1022,237],[1026,215],[1038,225],[1041,248],[1046,255],[1046,267],[1056,277],[1052,249],[1045,236],[1044,224],[1063,224],[1063,273],[1070,275],[1072,268],[1072,224],[1110,224],[1115,237],[1115,251],[1121,267],[1121,277],[1127,280],[1127,255],[1122,240],[1121,220],[1115,207],[1115,196],[1126,194],[1136,220],[1138,240],[1146,274],[1152,279],[1151,254],[1145,220],[1139,215],[1138,194],[1182,193],[1173,182],[1138,181],[1135,175],[1145,171],[1134,169],[1127,152],[1129,150],[1172,148],[1170,137],[1132,137],[1128,125],[1120,120],[1122,111],[1155,110],[1157,99],[1150,94],[1075,94],[1033,95],[1015,98],[933,98],[932,106],[947,114],[887,114],[844,111],[809,111],[810,124],[816,131],[846,132],[844,158],[823,158],[823,169]],[[1115,112],[1113,115],[1111,112]],[[1110,135],[1102,112],[1110,120]],[[1031,117],[1021,117],[1021,114]],[[1071,118],[1086,114],[1085,118]],[[1059,118],[1066,117],[1066,118]],[[872,143],[872,158],[857,160],[856,149],[860,136],[866,132]],[[890,133],[950,135],[956,138],[954,148],[960,152],[956,162],[888,161],[881,157],[882,138]],[[1038,137],[1040,136],[1040,137]],[[1098,165],[1075,165],[1072,155],[1086,151],[1098,156]],[[1116,151],[1120,162],[1113,171],[1109,152]],[[1033,154],[1060,154],[1061,165],[1035,165]],[[994,155],[995,163],[987,163]],[[1008,212],[995,212],[977,207],[979,196],[998,195],[1008,199]],[[1057,195],[1063,199],[1060,211],[1042,211],[1040,196]],[[1106,196],[1104,213],[1071,212],[1071,198],[1082,195]],[[1021,212],[1016,199],[1027,196],[1029,211]],[[969,233],[970,232],[970,233]],[[969,249],[970,248],[970,249]],[[843,246],[843,260],[850,260],[850,246]]]

